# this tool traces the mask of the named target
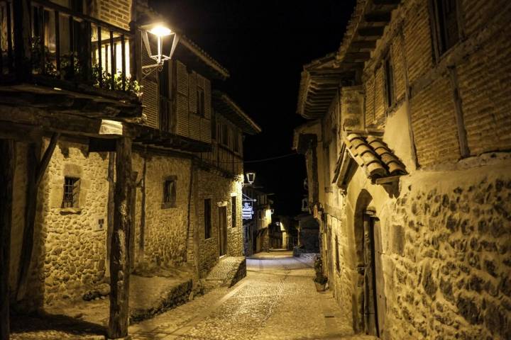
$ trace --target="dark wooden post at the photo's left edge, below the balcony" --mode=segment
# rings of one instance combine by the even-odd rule
[[[15,142],[0,140],[0,340],[9,340],[9,261],[15,167]]]

